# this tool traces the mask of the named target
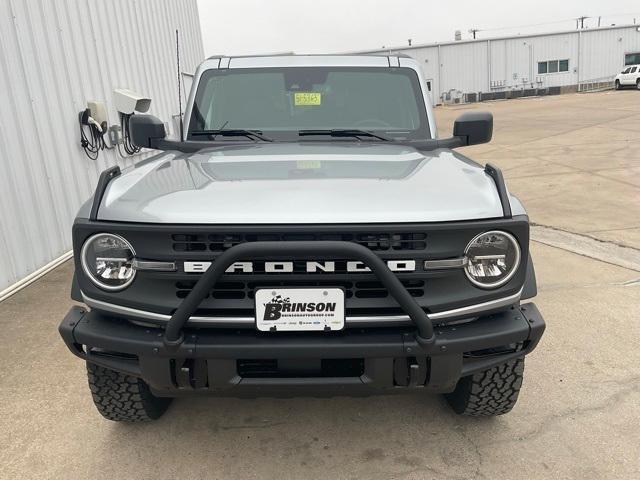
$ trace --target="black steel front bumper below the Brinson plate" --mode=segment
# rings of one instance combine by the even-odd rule
[[[530,353],[544,328],[529,303],[435,327],[431,342],[418,341],[415,328],[305,334],[185,328],[175,345],[162,330],[78,306],[59,331],[78,357],[142,378],[159,396],[291,396],[450,392],[461,377]]]

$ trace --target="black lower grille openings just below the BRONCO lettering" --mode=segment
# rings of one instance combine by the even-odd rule
[[[409,293],[414,297],[424,296],[424,280],[401,280]],[[181,280],[175,283],[176,296],[186,298],[195,286],[195,280]],[[206,298],[213,299],[253,299],[255,291],[260,288],[272,287],[338,287],[343,288],[346,298],[386,298],[389,292],[376,280],[342,281],[342,280],[269,280],[218,282]]]

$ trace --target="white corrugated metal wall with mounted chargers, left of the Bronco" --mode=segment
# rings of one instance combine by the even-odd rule
[[[99,173],[140,158],[84,155],[87,100],[106,102],[109,124],[118,87],[151,97],[167,122],[178,113],[176,29],[193,72],[204,58],[196,0],[0,0],[0,291],[68,251]]]

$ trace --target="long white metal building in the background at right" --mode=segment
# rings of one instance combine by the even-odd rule
[[[606,82],[640,63],[640,26],[453,41],[366,53],[404,53],[422,64],[434,103],[560,93]]]

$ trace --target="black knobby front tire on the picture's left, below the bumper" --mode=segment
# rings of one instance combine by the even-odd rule
[[[89,389],[100,414],[116,422],[146,422],[159,418],[170,398],[153,396],[139,378],[87,363]]]

